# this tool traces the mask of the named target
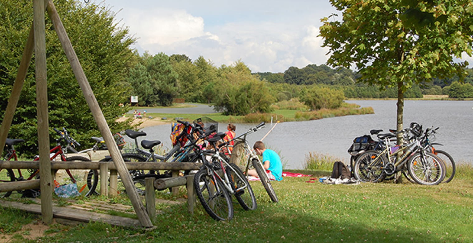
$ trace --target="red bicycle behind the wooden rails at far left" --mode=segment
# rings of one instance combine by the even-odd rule
[[[82,156],[70,156],[67,157],[64,153],[65,147],[62,146],[62,143],[66,142],[68,145],[69,144],[74,144],[79,146],[80,144],[77,143],[70,135],[66,135],[62,133],[61,131],[57,130],[56,128],[53,128],[54,131],[60,135],[60,138],[56,139],[56,146],[53,147],[49,152],[50,152],[50,159],[55,160],[58,156],[61,159],[61,161],[90,161],[88,158],[82,157]],[[7,139],[6,141],[6,155],[4,157],[4,160],[18,160],[17,152],[14,148],[13,145],[24,142],[23,139]],[[36,155],[34,158],[34,161],[38,161],[39,156]],[[6,171],[4,174],[3,171]],[[61,177],[60,173],[57,173],[55,171],[55,183],[58,185],[63,185],[67,184],[70,180],[70,182],[77,184],[78,186],[78,191],[81,195],[83,196],[90,196],[94,192],[97,181],[98,181],[98,172],[97,171],[92,171],[88,173],[83,173],[81,170],[74,170],[73,172],[70,170],[64,170],[67,174],[67,177]],[[15,174],[16,172],[16,174]],[[13,171],[11,169],[0,169],[0,182],[8,182],[8,181],[19,181],[19,180],[32,180],[32,179],[37,179],[39,178],[39,170],[31,169],[28,170],[29,176],[24,177],[23,176],[23,171],[20,169]],[[40,192],[39,189],[28,189],[28,190],[22,190],[18,191],[20,194],[22,194],[22,197],[38,197]],[[12,192],[7,192],[6,194],[3,195],[3,197],[9,197]]]

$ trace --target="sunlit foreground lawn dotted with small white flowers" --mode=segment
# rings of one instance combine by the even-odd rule
[[[235,203],[230,222],[214,221],[199,203],[191,216],[184,204],[162,209],[151,231],[100,223],[52,225],[46,236],[29,242],[473,242],[473,180],[438,186],[307,180],[274,182],[277,204],[252,181],[258,208],[245,211]],[[19,229],[38,219],[2,207],[0,214],[0,242],[5,235],[13,236],[9,242],[28,242],[30,233]]]

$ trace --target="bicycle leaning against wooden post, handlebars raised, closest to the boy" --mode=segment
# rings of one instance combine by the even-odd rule
[[[264,189],[268,193],[271,200],[273,202],[278,202],[278,197],[276,196],[276,192],[274,191],[271,185],[271,181],[269,180],[268,175],[266,174],[266,170],[263,167],[263,163],[260,161],[258,155],[253,152],[253,149],[248,144],[248,140],[246,140],[247,135],[260,130],[264,127],[264,125],[265,123],[261,122],[257,126],[251,127],[250,129],[248,129],[248,131],[236,136],[233,140],[223,143],[221,147],[228,146],[231,141],[234,141],[235,145],[233,145],[233,151],[230,153],[230,162],[236,165],[245,166],[245,175],[248,174],[248,170],[251,167],[254,167],[254,169],[258,173],[258,177],[260,178]],[[227,149],[227,151],[229,150]]]

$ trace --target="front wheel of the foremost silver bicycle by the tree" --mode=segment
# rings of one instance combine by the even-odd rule
[[[407,162],[412,179],[421,185],[437,185],[445,178],[445,164],[435,154],[415,153]]]

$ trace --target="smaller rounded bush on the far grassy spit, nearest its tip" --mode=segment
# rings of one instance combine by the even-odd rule
[[[342,90],[312,86],[304,91],[300,100],[311,110],[318,110],[321,108],[339,108],[343,99],[345,99],[345,96]]]

